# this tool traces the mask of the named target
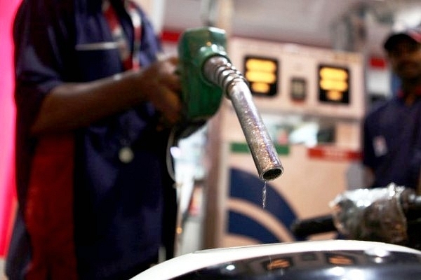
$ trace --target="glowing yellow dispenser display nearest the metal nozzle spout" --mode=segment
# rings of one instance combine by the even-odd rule
[[[278,65],[278,61],[272,58],[244,58],[244,77],[252,94],[274,96],[278,92]]]

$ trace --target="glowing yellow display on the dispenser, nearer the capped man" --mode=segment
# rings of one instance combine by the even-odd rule
[[[319,101],[349,104],[349,70],[347,68],[319,65]]]

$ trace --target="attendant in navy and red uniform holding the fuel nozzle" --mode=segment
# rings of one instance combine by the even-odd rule
[[[8,279],[128,279],[172,257],[166,169],[180,80],[139,6],[23,0],[15,16],[18,212]]]

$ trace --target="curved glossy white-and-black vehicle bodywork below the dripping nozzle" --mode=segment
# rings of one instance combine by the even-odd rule
[[[373,241],[298,241],[188,253],[131,280],[415,280],[421,251]]]

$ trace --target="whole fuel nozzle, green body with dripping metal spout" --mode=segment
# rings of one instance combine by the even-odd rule
[[[248,83],[226,52],[225,31],[215,27],[187,29],[178,45],[182,102],[187,123],[201,125],[219,109],[222,96],[231,100],[260,179],[283,173],[272,140],[253,103]]]

